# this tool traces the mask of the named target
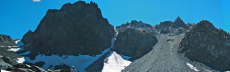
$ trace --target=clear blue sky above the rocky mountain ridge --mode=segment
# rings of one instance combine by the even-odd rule
[[[78,0],[2,0],[0,2],[0,34],[21,39],[34,31],[48,9],[60,9]],[[89,2],[90,0],[83,0]],[[217,28],[230,32],[230,0],[93,0],[102,15],[114,26],[131,20],[155,25],[174,21],[180,16],[185,23],[209,20]]]

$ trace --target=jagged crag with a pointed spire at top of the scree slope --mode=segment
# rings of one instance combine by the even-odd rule
[[[156,25],[155,28],[162,34],[174,33],[178,35],[185,33],[189,29],[189,25],[186,25],[178,16],[174,22],[164,21]]]

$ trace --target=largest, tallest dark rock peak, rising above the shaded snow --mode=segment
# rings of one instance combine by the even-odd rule
[[[114,27],[97,4],[78,1],[60,10],[50,9],[37,29],[22,38],[30,51],[42,54],[96,55],[111,46]]]

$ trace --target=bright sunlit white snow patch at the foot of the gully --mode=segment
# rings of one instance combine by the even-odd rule
[[[107,62],[104,63],[102,72],[121,72],[122,69],[131,63],[131,61],[125,60],[119,54],[113,52],[107,58]]]

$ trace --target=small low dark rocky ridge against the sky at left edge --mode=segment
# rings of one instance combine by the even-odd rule
[[[0,46],[15,46],[14,40],[7,35],[0,34]]]

